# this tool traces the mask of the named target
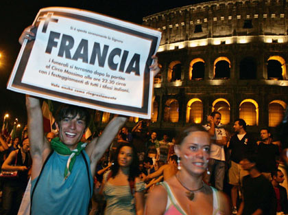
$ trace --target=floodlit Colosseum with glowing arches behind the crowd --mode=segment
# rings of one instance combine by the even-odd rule
[[[154,130],[206,123],[219,111],[231,131],[275,127],[288,102],[288,0],[221,0],[143,18],[162,32],[154,79]],[[102,120],[108,117],[101,115]],[[130,118],[128,126],[139,119]],[[103,121],[102,121],[103,122]]]

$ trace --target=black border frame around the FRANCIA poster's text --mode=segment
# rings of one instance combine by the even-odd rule
[[[27,42],[25,45],[25,49],[23,51],[23,54],[21,56],[21,60],[20,60],[19,65],[16,69],[16,73],[15,73],[14,79],[13,79],[12,84],[11,84],[12,87],[14,87],[16,89],[23,89],[25,91],[32,91],[34,93],[38,93],[38,94],[42,94],[42,95],[49,95],[49,97],[53,97],[53,98],[61,98],[62,100],[70,100],[72,102],[80,102],[82,104],[90,104],[90,105],[95,106],[95,109],[97,109],[96,106],[99,106],[99,107],[104,108],[104,109],[108,108],[108,109],[115,109],[115,110],[119,110],[119,111],[141,113],[141,114],[147,115],[148,105],[149,105],[149,85],[153,84],[153,83],[150,83],[149,65],[152,64],[151,56],[154,54],[154,52],[156,50],[158,37],[152,36],[149,34],[145,34],[143,32],[138,32],[136,30],[131,30],[127,27],[115,25],[113,23],[108,23],[106,21],[101,21],[101,20],[96,19],[96,18],[91,18],[88,16],[82,16],[79,14],[73,14],[71,12],[59,12],[59,11],[53,11],[53,10],[46,10],[46,11],[40,12],[40,14],[38,14],[38,16],[36,17],[36,20],[38,20],[39,16],[43,16],[44,14],[47,14],[48,12],[53,12],[53,15],[56,15],[56,16],[65,16],[65,17],[75,19],[78,21],[85,21],[87,23],[91,23],[91,24],[95,24],[95,25],[101,25],[104,27],[108,27],[112,30],[117,30],[119,32],[131,34],[133,36],[145,38],[145,39],[151,41],[152,43],[150,46],[149,55],[148,55],[148,58],[146,60],[145,70],[144,70],[144,86],[143,86],[143,98],[142,98],[143,106],[141,108],[137,108],[137,107],[125,106],[125,105],[121,105],[121,104],[111,104],[108,102],[90,100],[87,98],[82,98],[80,96],[70,95],[68,93],[63,93],[63,92],[60,93],[58,91],[53,91],[50,89],[44,89],[42,87],[35,87],[35,86],[30,85],[30,84],[25,84],[25,83],[21,82],[24,71],[25,71],[25,67],[27,65],[27,62],[29,60],[29,56],[30,56],[30,54],[32,52],[32,48],[34,46],[34,41]],[[38,22],[36,22],[36,27],[34,28],[35,32],[37,29],[38,29]],[[135,87],[139,87],[139,86],[135,86]],[[129,101],[128,101],[128,103],[129,103]]]

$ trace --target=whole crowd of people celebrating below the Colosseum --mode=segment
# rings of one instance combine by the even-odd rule
[[[257,141],[246,133],[244,120],[235,121],[232,133],[221,125],[221,113],[214,111],[207,124],[186,128],[176,137],[163,133],[160,141],[149,121],[139,121],[130,132],[125,117],[116,117],[95,139],[84,139],[86,109],[62,106],[58,134],[44,135],[42,128],[29,129],[42,122],[35,114],[41,115],[37,106],[38,99],[27,97],[29,133],[14,139],[0,137],[1,174],[18,174],[1,177],[1,214],[17,214],[30,177],[32,214],[288,214],[280,143],[273,141],[268,128],[260,130]],[[29,116],[32,110],[36,112]],[[45,136],[41,148],[30,150],[38,135]],[[71,148],[75,138],[80,142]],[[89,152],[93,144],[97,152],[93,148]],[[38,163],[32,165],[32,160]],[[54,207],[61,201],[67,205],[62,195],[71,185],[69,202],[74,205],[70,195],[77,196],[77,206]],[[41,198],[45,207],[37,207]]]

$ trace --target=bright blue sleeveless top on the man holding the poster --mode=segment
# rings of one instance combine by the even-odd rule
[[[83,150],[88,163],[88,172],[93,188],[93,178],[90,171],[90,159]],[[86,164],[82,155],[76,157],[73,170],[69,177],[64,179],[64,168],[69,156],[53,152],[38,181],[32,199],[32,215],[69,215],[88,214],[88,204],[91,199],[91,190],[87,175]],[[36,179],[31,181],[31,190],[34,189]]]

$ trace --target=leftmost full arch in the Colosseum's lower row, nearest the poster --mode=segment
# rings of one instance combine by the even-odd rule
[[[165,104],[164,122],[178,122],[179,120],[179,103],[177,100],[169,99]]]

